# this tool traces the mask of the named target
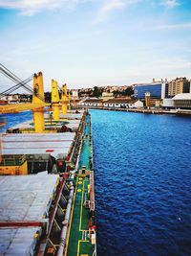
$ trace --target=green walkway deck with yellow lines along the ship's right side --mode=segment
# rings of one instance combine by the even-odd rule
[[[87,116],[78,170],[83,166],[86,166],[87,170],[91,170],[89,158],[92,157],[90,135],[90,116]],[[88,237],[90,210],[83,205],[89,184],[90,179],[88,177],[77,177],[76,179],[72,221],[70,224],[69,239],[65,253],[67,256],[93,255],[95,251],[95,245],[91,243],[91,240]]]

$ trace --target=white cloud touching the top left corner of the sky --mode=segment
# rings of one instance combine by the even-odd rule
[[[19,10],[22,15],[33,15],[44,10],[71,8],[86,0],[0,0],[0,8]]]

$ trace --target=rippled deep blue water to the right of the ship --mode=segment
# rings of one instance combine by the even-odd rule
[[[97,255],[191,255],[191,118],[91,113]]]

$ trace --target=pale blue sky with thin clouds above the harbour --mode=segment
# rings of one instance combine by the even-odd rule
[[[0,62],[45,91],[191,79],[191,0],[0,0]]]

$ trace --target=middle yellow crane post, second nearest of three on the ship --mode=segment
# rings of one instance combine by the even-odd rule
[[[52,80],[53,120],[59,120],[59,93],[57,81]]]

